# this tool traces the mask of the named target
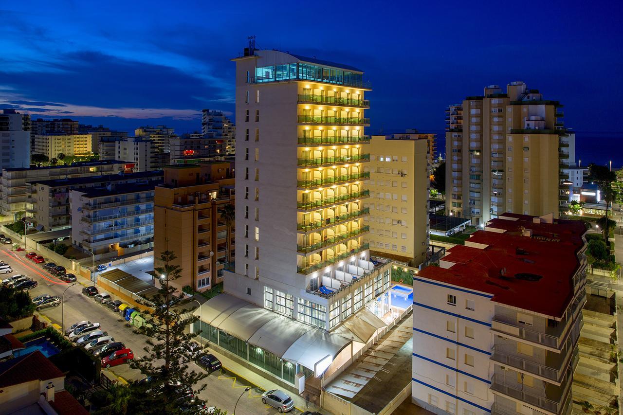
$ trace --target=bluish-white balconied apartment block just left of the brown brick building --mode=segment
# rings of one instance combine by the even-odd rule
[[[72,189],[72,243],[95,259],[153,248],[155,184]]]

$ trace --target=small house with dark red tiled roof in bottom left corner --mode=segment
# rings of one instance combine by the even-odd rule
[[[65,390],[65,374],[39,350],[0,363],[2,414],[87,415]]]

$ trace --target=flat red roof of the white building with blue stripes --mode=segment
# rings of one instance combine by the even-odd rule
[[[442,259],[454,262],[452,267],[428,267],[418,275],[490,293],[494,302],[562,317],[573,298],[573,275],[586,228],[579,221],[556,219],[545,224],[533,223],[532,216],[516,217],[516,221],[493,219],[487,225],[504,233],[477,231],[466,241],[486,245],[485,249],[454,246]],[[524,229],[531,229],[532,236],[524,236]],[[518,279],[517,274],[541,278]]]

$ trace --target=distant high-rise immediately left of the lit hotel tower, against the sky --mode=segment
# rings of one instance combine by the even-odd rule
[[[202,110],[201,135],[208,140],[207,156],[235,154],[235,126],[222,111]]]

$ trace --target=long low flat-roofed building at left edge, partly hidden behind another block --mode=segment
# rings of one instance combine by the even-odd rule
[[[85,161],[69,166],[45,166],[33,168],[2,169],[0,184],[0,208],[2,214],[16,214],[26,210],[27,183],[37,180],[53,180],[85,176],[101,176],[117,174],[120,171],[130,172],[134,168],[131,163],[118,160]]]

